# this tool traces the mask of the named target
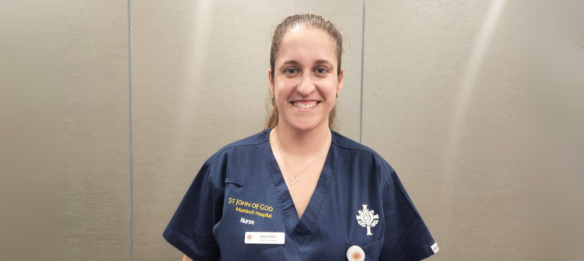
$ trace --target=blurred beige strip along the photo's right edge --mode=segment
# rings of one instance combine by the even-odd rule
[[[526,1],[526,260],[584,260],[584,1]]]

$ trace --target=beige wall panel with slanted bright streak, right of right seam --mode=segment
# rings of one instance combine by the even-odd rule
[[[521,260],[520,2],[367,2],[363,144],[398,172],[432,260]]]

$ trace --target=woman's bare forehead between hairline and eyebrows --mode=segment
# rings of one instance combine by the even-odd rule
[[[336,64],[336,45],[332,38],[320,29],[295,27],[282,37],[276,64],[289,60],[314,62],[322,59]]]

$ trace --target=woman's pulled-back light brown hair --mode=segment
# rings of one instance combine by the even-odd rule
[[[338,61],[336,73],[340,76],[340,60],[343,54],[343,36],[340,34],[338,27],[331,21],[324,19],[319,15],[304,14],[288,16],[278,26],[272,34],[272,47],[270,48],[270,68],[272,68],[272,79],[274,79],[274,66],[276,62],[276,55],[280,47],[280,41],[284,34],[290,29],[296,27],[312,27],[314,29],[321,29],[333,40],[336,45],[336,59]],[[276,97],[272,93],[268,97],[268,117],[266,119],[265,128],[273,128],[278,124],[278,107],[276,105]],[[329,128],[336,131],[336,104],[329,113]]]

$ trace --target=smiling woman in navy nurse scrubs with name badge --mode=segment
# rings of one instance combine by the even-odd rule
[[[342,36],[317,15],[274,31],[266,129],[211,156],[164,238],[183,260],[422,260],[438,247],[395,171],[331,131]]]

